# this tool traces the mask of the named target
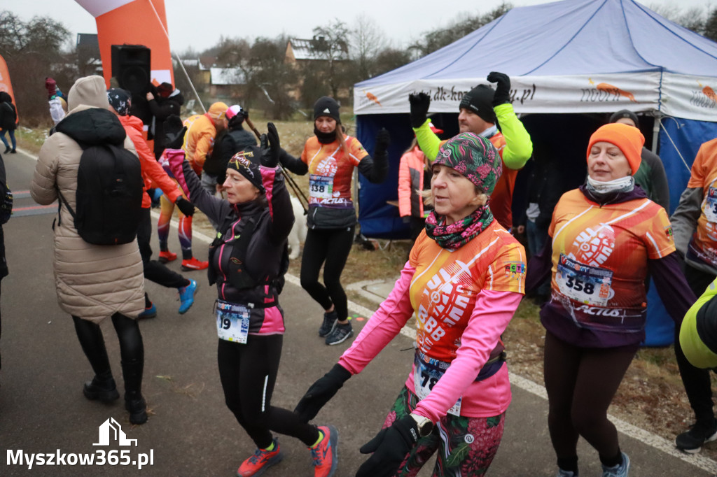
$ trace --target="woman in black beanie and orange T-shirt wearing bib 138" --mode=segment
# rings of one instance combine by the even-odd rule
[[[351,200],[353,169],[380,184],[389,172],[389,133],[376,135],[374,157],[359,140],[343,133],[338,102],[320,97],[314,104],[314,135],[306,140],[301,158],[283,153],[281,164],[295,174],[309,173],[308,231],[301,258],[301,286],[324,309],[318,335],[326,344],[341,344],[353,336],[348,321],[341,272],[351,252],[356,208]],[[323,266],[323,284],[318,276]]]

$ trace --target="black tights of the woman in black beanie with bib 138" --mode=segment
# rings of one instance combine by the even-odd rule
[[[301,257],[301,286],[323,309],[336,307],[338,321],[348,317],[346,292],[341,286],[341,272],[353,244],[355,227],[306,231]],[[318,274],[323,265],[323,285]]]

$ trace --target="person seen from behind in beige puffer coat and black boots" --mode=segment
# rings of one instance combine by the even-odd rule
[[[117,117],[109,111],[105,81],[100,76],[80,78],[67,95],[69,112],[42,145],[30,193],[39,204],[57,200],[59,189],[76,207],[77,168],[86,144],[123,144],[135,153]],[[136,154],[136,153],[135,153]],[[85,382],[89,400],[117,400],[100,322],[111,317],[120,342],[125,381],[125,408],[130,422],[147,420],[141,394],[144,347],[136,318],[144,311],[144,276],[137,240],[123,245],[88,244],[77,233],[70,212],[60,208],[54,228],[54,279],[57,302],[72,315],[82,351],[95,377]]]

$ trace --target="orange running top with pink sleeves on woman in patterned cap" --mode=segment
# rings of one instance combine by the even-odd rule
[[[455,251],[441,249],[423,231],[393,291],[339,364],[351,374],[361,372],[415,316],[417,352],[449,366],[414,412],[436,422],[461,397],[460,415],[499,415],[511,403],[507,366],[485,380],[476,377],[502,347],[500,335],[524,293],[525,271],[523,246],[496,221]],[[406,380],[414,393],[415,368]]]

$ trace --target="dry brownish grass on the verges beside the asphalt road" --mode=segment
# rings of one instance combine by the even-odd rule
[[[252,120],[260,131],[265,130],[266,122],[263,118],[252,116]],[[351,117],[342,117],[342,122],[348,127],[349,133],[353,133]],[[313,134],[311,122],[277,121],[275,125],[282,147],[290,154],[300,155],[304,141]],[[37,152],[46,133],[22,130],[18,136],[23,148]],[[305,176],[294,178],[303,191],[308,190],[308,179]],[[199,211],[195,216],[194,226],[196,230],[209,236],[214,235],[212,226]],[[376,243],[379,249],[375,251],[361,246],[353,247],[343,271],[343,284],[374,279],[389,280],[398,276],[407,257],[408,241]],[[300,260],[293,261],[290,274],[298,276],[299,271]],[[375,304],[366,302],[351,292],[349,298],[369,309],[376,308]],[[536,305],[524,299],[503,338],[511,371],[542,384],[545,330],[538,319],[538,311]],[[191,390],[191,393],[194,392],[195,390]],[[609,412],[668,440],[674,440],[675,435],[683,432],[693,422],[693,413],[680,381],[672,347],[644,348],[637,353]],[[703,448],[702,455],[717,459],[717,445],[707,445]]]

